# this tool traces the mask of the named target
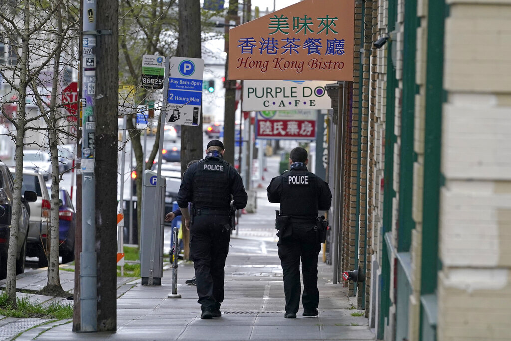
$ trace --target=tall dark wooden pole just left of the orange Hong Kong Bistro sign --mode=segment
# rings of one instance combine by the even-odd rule
[[[238,0],[229,0],[229,8],[227,9],[227,16],[225,17],[225,47],[224,51],[227,53],[225,57],[225,100],[224,100],[224,138],[223,144],[225,146],[224,160],[229,164],[234,165],[234,122],[235,122],[235,101],[236,101],[236,80],[230,80],[227,78],[229,69],[229,55],[228,55],[228,40],[229,27],[231,22],[234,22],[235,26],[240,25],[240,17],[238,16]],[[241,122],[240,122],[241,126]]]

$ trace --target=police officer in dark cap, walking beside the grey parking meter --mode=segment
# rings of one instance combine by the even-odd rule
[[[190,254],[194,262],[201,319],[221,316],[224,298],[224,266],[229,251],[229,205],[242,209],[247,193],[238,172],[223,160],[222,142],[207,144],[206,156],[183,174],[177,204],[190,230]],[[188,202],[192,203],[191,212]]]

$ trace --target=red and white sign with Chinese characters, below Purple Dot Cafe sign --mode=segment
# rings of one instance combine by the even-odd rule
[[[316,112],[310,110],[258,111],[258,139],[316,139]]]

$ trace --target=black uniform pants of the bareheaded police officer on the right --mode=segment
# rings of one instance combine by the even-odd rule
[[[291,236],[281,238],[278,245],[278,257],[284,272],[284,293],[286,294],[286,312],[298,312],[300,306],[300,260],[304,278],[304,294],[301,302],[304,309],[316,309],[319,305],[318,255],[321,244],[314,231],[314,224],[292,223]]]

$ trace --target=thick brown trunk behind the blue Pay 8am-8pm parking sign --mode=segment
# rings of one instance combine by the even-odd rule
[[[178,57],[201,58],[199,0],[180,1],[178,6],[179,38],[176,55]],[[202,120],[200,120],[198,126],[181,126],[181,174],[187,169],[187,164],[190,161],[202,158],[202,148]],[[190,259],[190,248],[188,245],[190,232],[184,228],[182,232],[183,259],[188,260]]]

